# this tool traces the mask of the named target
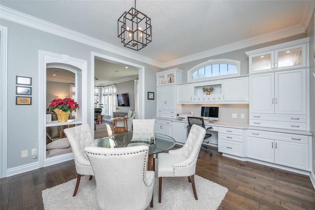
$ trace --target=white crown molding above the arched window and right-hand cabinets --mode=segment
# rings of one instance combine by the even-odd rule
[[[192,55],[189,55],[186,57],[182,57],[182,58],[170,61],[170,62],[165,62],[165,63],[163,63],[162,68],[168,68],[168,67],[180,65],[183,63],[188,63],[191,61],[204,59],[204,58],[208,58],[211,56],[220,55],[222,53],[227,53],[227,52],[231,52],[234,50],[239,50],[239,49],[243,49],[246,47],[251,47],[254,45],[258,45],[258,44],[266,43],[269,41],[274,41],[274,40],[290,37],[293,35],[299,35],[299,34],[303,34],[303,33],[305,33],[304,27],[302,25],[298,24],[298,25],[294,25],[291,27],[281,29],[281,30],[266,33],[263,35],[258,35],[258,36],[247,38],[247,39],[244,39],[241,41],[233,42],[231,44],[226,44],[226,45],[216,47],[216,48],[213,48],[210,50],[206,50],[203,52],[195,53],[195,54],[192,54]]]

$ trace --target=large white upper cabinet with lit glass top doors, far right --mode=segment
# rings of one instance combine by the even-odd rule
[[[308,41],[303,38],[246,52],[251,126],[309,130]]]

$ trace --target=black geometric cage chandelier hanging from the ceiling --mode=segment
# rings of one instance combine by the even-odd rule
[[[140,50],[152,41],[151,19],[139,10],[136,10],[136,0],[134,8],[118,19],[118,37],[125,47]]]

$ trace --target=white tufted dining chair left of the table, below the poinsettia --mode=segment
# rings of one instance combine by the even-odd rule
[[[79,188],[81,176],[90,175],[89,180],[91,180],[92,176],[94,175],[91,163],[85,155],[84,148],[88,146],[96,146],[96,144],[94,142],[89,124],[66,128],[63,131],[71,145],[74,156],[75,170],[78,174],[77,183],[73,193],[73,196],[75,196]]]

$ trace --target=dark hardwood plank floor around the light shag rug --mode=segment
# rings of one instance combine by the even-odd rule
[[[315,190],[309,176],[225,158],[216,148],[210,149],[212,157],[200,151],[196,175],[228,188],[219,210],[315,209]],[[2,178],[0,210],[42,210],[41,191],[73,178],[73,160]]]

